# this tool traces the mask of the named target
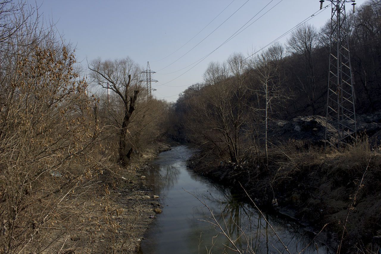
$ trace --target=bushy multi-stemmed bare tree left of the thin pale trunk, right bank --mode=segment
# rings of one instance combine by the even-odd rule
[[[202,97],[188,99],[192,133],[205,141],[204,145],[213,146],[221,159],[232,163],[242,160],[242,128],[247,123],[243,58],[232,54],[226,63],[210,63],[204,73],[206,84],[199,90]]]

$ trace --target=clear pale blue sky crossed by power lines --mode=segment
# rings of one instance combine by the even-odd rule
[[[250,55],[314,13],[308,23],[320,28],[331,11],[327,7],[316,13],[319,0],[27,1],[37,4],[44,19],[53,21],[76,47],[77,61],[84,67],[98,57],[129,56],[144,69],[149,61],[157,72],[152,79],[158,80],[152,83],[157,89],[153,95],[167,101],[176,101],[188,85],[202,81],[211,61],[223,62],[235,52]],[[356,1],[357,6],[364,2]],[[347,12],[351,8],[348,3]],[[245,23],[242,29],[248,27],[239,30]],[[287,37],[279,42],[285,43]]]

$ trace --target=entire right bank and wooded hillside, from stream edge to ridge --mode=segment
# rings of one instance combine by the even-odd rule
[[[381,232],[381,182],[375,180],[381,172],[381,3],[370,0],[357,10],[347,28],[356,141],[323,149],[337,138],[325,120],[330,22],[304,24],[286,43],[258,54],[211,62],[205,82],[176,101],[170,137],[200,147],[192,162],[197,172],[235,188],[242,184],[259,203],[291,209],[317,227],[328,223],[337,233],[330,236],[333,245],[368,253],[366,244]]]

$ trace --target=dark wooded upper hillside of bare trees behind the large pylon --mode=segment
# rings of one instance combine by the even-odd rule
[[[380,108],[380,6],[378,1],[368,1],[347,18],[358,114]],[[212,101],[209,91],[213,90],[215,102],[211,104],[221,97],[217,94],[230,92],[219,100],[229,99],[230,107],[237,104],[263,118],[264,84],[269,81],[267,96],[271,101],[267,106],[273,116],[279,119],[325,116],[330,32],[330,21],[321,28],[305,24],[291,33],[287,43],[272,45],[259,55],[247,57],[233,53],[224,63],[211,62],[205,70],[205,82],[192,85],[181,94],[176,103],[177,112],[185,115],[192,100],[200,104]]]

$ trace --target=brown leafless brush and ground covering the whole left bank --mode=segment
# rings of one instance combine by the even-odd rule
[[[152,211],[133,159],[163,135],[168,104],[137,97],[123,124],[125,112],[89,94],[75,50],[37,8],[1,1],[0,21],[1,252],[135,251]],[[128,167],[115,133],[134,148]]]

